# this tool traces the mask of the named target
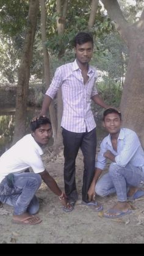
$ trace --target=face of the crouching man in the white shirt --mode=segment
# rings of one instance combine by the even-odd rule
[[[52,136],[51,125],[49,125],[49,123],[47,123],[46,125],[41,125],[34,131],[34,133],[32,133],[32,136],[38,144],[48,144],[49,139]]]

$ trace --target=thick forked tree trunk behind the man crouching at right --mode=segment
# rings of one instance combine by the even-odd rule
[[[121,98],[123,126],[136,131],[144,147],[144,10],[139,22],[128,23],[118,1],[102,0],[129,48],[129,62]]]

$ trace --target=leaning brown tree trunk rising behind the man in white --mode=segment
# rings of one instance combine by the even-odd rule
[[[29,15],[27,19],[26,36],[24,39],[20,68],[18,70],[13,144],[24,136],[26,130],[27,93],[29,88],[30,66],[32,62],[32,49],[34,45],[35,30],[37,26],[38,8],[38,0],[29,1]]]

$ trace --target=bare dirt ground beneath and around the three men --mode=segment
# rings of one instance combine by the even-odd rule
[[[45,154],[46,155],[46,154]],[[46,163],[49,173],[63,189],[63,152],[57,159]],[[132,203],[131,214],[118,219],[107,219],[81,205],[83,158],[79,152],[76,161],[76,183],[79,200],[71,213],[65,213],[59,198],[42,183],[37,192],[40,201],[38,215],[43,220],[38,225],[12,224],[13,208],[0,208],[0,243],[5,244],[114,244],[143,243],[144,241],[144,197]],[[115,195],[98,201],[109,209],[117,201]],[[100,216],[99,216],[100,215]]]

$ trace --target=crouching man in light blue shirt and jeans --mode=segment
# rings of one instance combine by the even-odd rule
[[[128,200],[144,196],[144,152],[137,134],[127,128],[121,128],[121,113],[109,108],[104,111],[103,125],[109,132],[101,142],[96,162],[95,176],[88,189],[88,199],[117,193],[118,202],[110,208],[104,217],[118,218],[131,213]],[[112,161],[109,172],[100,175],[107,159]]]

